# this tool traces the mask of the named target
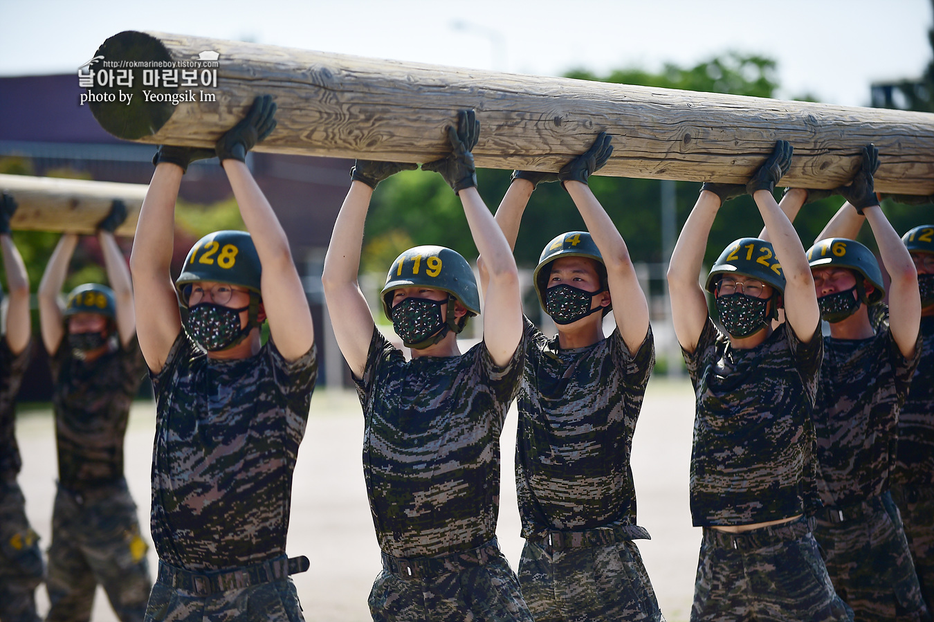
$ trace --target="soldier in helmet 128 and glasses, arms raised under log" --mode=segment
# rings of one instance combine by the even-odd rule
[[[159,573],[148,622],[304,619],[289,575],[308,559],[285,548],[318,373],[314,327],[288,238],[244,162],[275,128],[275,112],[270,96],[257,97],[215,150],[160,148],[140,210],[130,263],[156,394],[150,526]],[[205,235],[173,288],[181,178],[215,153],[249,233]]]

